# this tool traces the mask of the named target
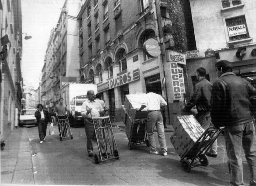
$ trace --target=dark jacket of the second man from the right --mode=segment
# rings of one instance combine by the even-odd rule
[[[212,84],[202,78],[194,87],[191,100],[185,106],[185,111],[190,111],[193,106],[197,106],[197,112],[209,112],[211,100]]]

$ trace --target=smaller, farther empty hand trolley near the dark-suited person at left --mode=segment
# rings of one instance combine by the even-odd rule
[[[71,138],[73,139],[72,132],[69,125],[69,118],[66,116],[58,116],[57,115],[57,122],[59,127],[59,140],[62,141],[64,138]]]

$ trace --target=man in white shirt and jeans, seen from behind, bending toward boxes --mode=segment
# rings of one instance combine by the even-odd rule
[[[147,102],[143,103],[140,108],[136,108],[136,112],[143,110],[145,107],[148,112],[148,123],[147,132],[150,144],[150,154],[159,154],[156,148],[155,138],[154,138],[154,128],[156,127],[158,133],[158,141],[160,144],[161,152],[163,156],[167,156],[167,146],[165,142],[165,128],[163,122],[163,116],[160,111],[160,106],[166,106],[167,103],[162,96],[149,92],[146,94]]]

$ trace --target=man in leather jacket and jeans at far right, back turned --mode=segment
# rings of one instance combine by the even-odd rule
[[[215,64],[218,79],[213,83],[211,117],[217,128],[225,127],[224,136],[233,186],[244,185],[241,149],[251,173],[250,186],[256,186],[256,134],[250,97],[256,89],[232,73],[229,61]]]

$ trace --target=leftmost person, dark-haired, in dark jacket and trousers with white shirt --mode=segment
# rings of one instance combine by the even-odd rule
[[[50,122],[50,118],[47,110],[43,110],[43,105],[37,105],[37,111],[35,112],[35,117],[37,118],[38,133],[40,138],[40,143],[43,143],[46,136],[47,123]]]

